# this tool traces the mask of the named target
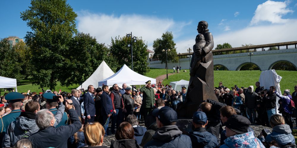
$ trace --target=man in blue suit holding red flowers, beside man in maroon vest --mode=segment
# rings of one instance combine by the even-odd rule
[[[107,85],[103,85],[102,86],[102,90],[103,93],[101,95],[101,104],[102,104],[102,108],[101,108],[101,114],[102,114],[102,118],[103,118],[103,128],[105,130],[105,135],[108,135],[108,123],[109,123],[109,119],[110,119],[110,115],[113,113],[113,106],[112,106],[112,102],[111,102],[111,98],[108,94],[108,86]]]

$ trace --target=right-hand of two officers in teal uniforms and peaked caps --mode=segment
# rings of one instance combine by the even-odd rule
[[[50,92],[43,94],[43,97],[46,99],[46,108],[50,112],[52,112],[55,116],[56,122],[54,124],[54,127],[57,128],[59,126],[66,126],[68,122],[68,115],[65,112],[65,106],[63,105],[63,101],[64,101],[63,96],[59,95],[58,109],[56,108],[58,102],[53,100],[53,96],[56,96],[56,95]]]

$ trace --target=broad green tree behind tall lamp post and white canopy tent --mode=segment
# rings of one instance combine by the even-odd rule
[[[117,70],[119,70],[124,64],[129,68],[132,68],[131,64],[131,47],[127,45],[131,44],[130,37],[115,37],[111,38],[110,44],[110,54],[116,55],[116,63],[118,64]],[[147,62],[147,52],[148,46],[142,37],[137,37],[137,42],[133,42],[133,70],[141,75],[145,75],[149,72],[148,62]]]

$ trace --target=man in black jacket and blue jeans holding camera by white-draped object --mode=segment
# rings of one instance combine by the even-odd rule
[[[270,121],[270,117],[276,114],[275,107],[277,106],[276,105],[277,95],[274,92],[275,92],[275,86],[270,86],[268,92],[264,91],[264,95],[266,95],[267,93],[267,98],[264,99],[264,102],[267,110],[268,122]]]

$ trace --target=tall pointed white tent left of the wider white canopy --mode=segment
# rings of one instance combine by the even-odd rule
[[[98,87],[98,81],[102,81],[105,78],[112,76],[114,72],[109,68],[109,66],[102,61],[95,72],[82,84],[82,88],[87,90],[89,85],[93,85],[94,88]],[[81,89],[81,85],[77,89]]]

